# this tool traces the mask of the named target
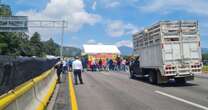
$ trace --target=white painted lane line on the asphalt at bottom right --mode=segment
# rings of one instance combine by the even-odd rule
[[[201,108],[201,109],[204,109],[204,110],[208,110],[208,107],[206,107],[206,106],[199,105],[197,103],[194,103],[194,102],[191,102],[191,101],[188,101],[188,100],[185,100],[185,99],[182,99],[182,98],[179,98],[179,97],[176,97],[176,96],[173,96],[173,95],[161,92],[161,91],[155,91],[155,92],[160,94],[160,95],[167,96],[169,98],[175,99],[177,101],[184,102],[184,103],[190,104],[192,106],[195,106],[195,107],[198,107],[198,108]]]

